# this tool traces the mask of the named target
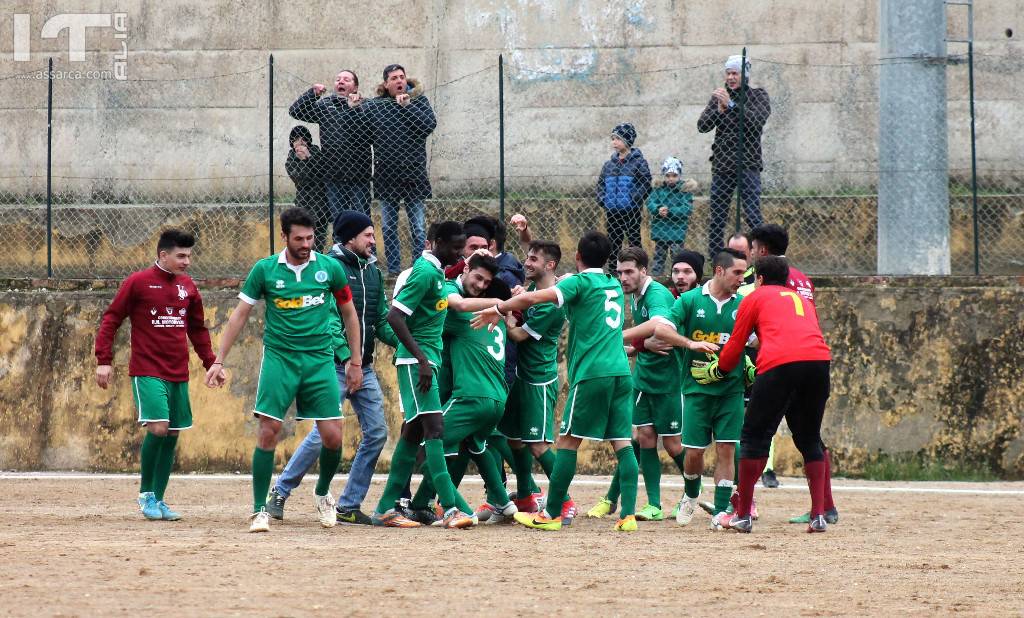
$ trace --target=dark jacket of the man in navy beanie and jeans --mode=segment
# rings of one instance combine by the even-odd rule
[[[362,338],[362,366],[374,362],[375,339],[392,348],[398,341],[387,323],[387,293],[384,291],[384,275],[377,268],[377,258],[364,260],[340,245],[335,245],[329,256],[341,262],[352,291],[352,304],[359,316],[359,335]]]

